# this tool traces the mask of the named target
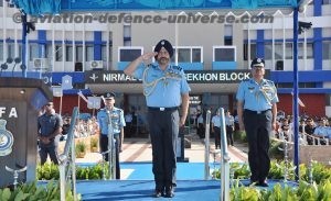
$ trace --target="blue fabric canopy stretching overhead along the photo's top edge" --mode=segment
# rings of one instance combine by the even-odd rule
[[[297,0],[12,0],[31,15],[74,11],[296,8]]]

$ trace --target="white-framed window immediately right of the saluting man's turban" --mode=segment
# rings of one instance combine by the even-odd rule
[[[179,63],[202,63],[202,47],[200,46],[179,46],[173,47],[171,62],[175,63],[175,52],[178,51]]]

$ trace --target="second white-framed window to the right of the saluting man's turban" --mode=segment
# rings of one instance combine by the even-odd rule
[[[213,62],[236,62],[235,46],[214,46]]]

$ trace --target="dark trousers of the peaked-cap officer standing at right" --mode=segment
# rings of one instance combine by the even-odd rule
[[[266,110],[244,111],[244,124],[248,141],[248,163],[250,168],[250,181],[264,182],[270,169],[269,134],[271,132],[273,113]]]

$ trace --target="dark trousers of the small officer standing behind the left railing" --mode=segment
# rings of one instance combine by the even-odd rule
[[[116,160],[116,179],[120,179],[120,168],[119,168],[119,134],[114,135],[115,139],[115,160]],[[108,148],[108,136],[105,134],[102,134],[100,137],[100,148],[102,152],[107,152]],[[105,160],[109,161],[109,156],[108,154],[105,154]]]

